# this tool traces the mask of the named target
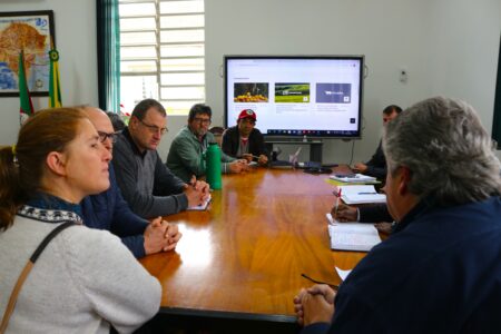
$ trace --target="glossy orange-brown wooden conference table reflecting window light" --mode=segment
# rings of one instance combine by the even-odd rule
[[[176,252],[141,264],[163,285],[160,315],[295,324],[293,297],[313,283],[340,283],[365,253],[330,249],[334,196],[328,175],[256,168],[223,177],[206,212],[168,216],[183,232]]]

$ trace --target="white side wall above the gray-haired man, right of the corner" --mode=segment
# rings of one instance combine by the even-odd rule
[[[501,1],[436,1],[431,24],[431,92],[470,102],[491,132],[501,32]]]

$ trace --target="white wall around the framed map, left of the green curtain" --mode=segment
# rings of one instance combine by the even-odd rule
[[[96,1],[1,0],[0,11],[53,10],[56,47],[63,105],[98,104]],[[16,141],[19,98],[1,98],[0,145]],[[47,97],[32,97],[35,109],[48,107]]]

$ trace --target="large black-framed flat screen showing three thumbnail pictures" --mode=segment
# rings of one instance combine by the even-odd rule
[[[363,56],[225,56],[225,126],[253,109],[266,136],[360,138]]]

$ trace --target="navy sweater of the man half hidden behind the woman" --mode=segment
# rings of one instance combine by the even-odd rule
[[[109,165],[108,190],[87,196],[81,202],[84,224],[90,228],[106,229],[119,236],[137,258],[146,255],[144,233],[148,220],[134,214],[121,197],[115,170]]]

